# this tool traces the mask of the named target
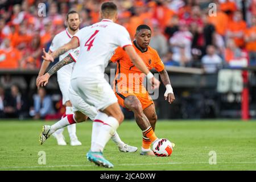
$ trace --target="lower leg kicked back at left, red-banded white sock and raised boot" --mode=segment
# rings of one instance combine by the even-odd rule
[[[60,119],[60,121],[54,123],[53,125],[44,125],[42,133],[39,137],[40,144],[43,144],[47,138],[49,138],[56,130],[62,129],[65,126],[73,125],[75,123],[80,123],[86,121],[88,117],[82,114],[80,111],[76,111],[74,114],[68,114],[66,117]]]

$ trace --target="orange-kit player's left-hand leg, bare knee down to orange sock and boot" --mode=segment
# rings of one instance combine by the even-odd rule
[[[140,127],[143,133],[143,143],[141,155],[154,155],[150,150],[150,145],[158,139],[151,127],[150,121],[147,116],[143,113],[143,107],[137,96],[130,95],[125,98],[125,107],[130,109],[134,113],[135,121]],[[149,146],[149,147],[148,147]]]

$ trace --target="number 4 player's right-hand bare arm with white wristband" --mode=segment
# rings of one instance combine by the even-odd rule
[[[146,65],[144,64],[143,60],[139,55],[136,53],[133,46],[126,46],[125,51],[127,55],[130,57],[131,61],[133,61],[135,67],[137,67],[141,72],[147,75],[147,78],[151,81],[152,89],[156,89],[160,85],[160,81],[157,80],[154,75],[147,69]]]

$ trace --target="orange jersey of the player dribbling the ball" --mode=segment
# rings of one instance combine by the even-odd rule
[[[135,51],[141,56],[148,69],[155,68],[158,72],[163,71],[164,64],[155,49],[148,46],[147,50],[142,52],[134,43],[135,41],[133,42]],[[117,62],[114,91],[116,89],[115,86],[121,89],[118,92],[138,93],[146,91],[142,84],[145,77],[144,73],[134,66],[127,53],[121,47],[115,49],[115,53],[110,60],[114,63]]]

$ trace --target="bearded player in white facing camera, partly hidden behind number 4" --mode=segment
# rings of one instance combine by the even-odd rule
[[[81,22],[80,22],[79,14],[76,11],[69,11],[69,13],[67,14],[66,22],[68,27],[64,31],[55,35],[55,37],[52,40],[51,46],[49,47],[49,53],[56,51],[56,49],[68,43],[71,40],[72,36],[76,34],[77,31],[79,31],[79,26]],[[68,53],[71,51],[72,50],[60,55],[59,61],[62,60],[65,56],[67,56]],[[38,78],[46,72],[46,69],[49,63],[50,63],[49,61],[45,61],[45,60],[43,61],[38,74]],[[63,96],[62,102],[63,102],[63,105],[65,105],[65,109],[66,109],[63,117],[65,117],[65,115],[73,113],[72,104],[68,96],[68,89],[70,85],[72,71],[73,71],[73,64],[69,64],[69,65],[65,65],[65,67],[63,67],[57,72],[57,81],[60,87],[61,94]],[[38,86],[38,79],[36,81],[36,84]],[[67,144],[64,140],[63,131],[64,131],[64,128],[57,130],[53,134],[53,137],[57,139],[57,143],[59,145]],[[71,140],[71,146],[80,146],[81,142],[77,139],[77,136],[76,136],[76,125],[68,126],[68,133]]]

